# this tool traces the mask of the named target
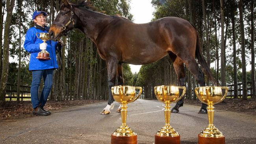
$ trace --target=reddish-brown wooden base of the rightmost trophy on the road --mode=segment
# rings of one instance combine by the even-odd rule
[[[211,138],[198,135],[198,144],[225,144],[225,137]]]

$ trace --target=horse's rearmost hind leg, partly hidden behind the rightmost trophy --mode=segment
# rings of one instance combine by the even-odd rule
[[[195,76],[195,79],[197,79],[200,87],[204,87],[205,86],[204,73],[198,67],[195,59],[185,60],[184,62],[188,70],[193,74],[193,76]],[[207,106],[206,104],[202,103],[202,107],[198,113],[207,114],[206,106]]]

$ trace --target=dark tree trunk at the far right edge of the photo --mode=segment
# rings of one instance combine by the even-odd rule
[[[252,51],[252,90],[251,90],[251,98],[256,98],[256,80],[255,80],[255,52],[254,52],[254,0],[251,0],[251,51]]]

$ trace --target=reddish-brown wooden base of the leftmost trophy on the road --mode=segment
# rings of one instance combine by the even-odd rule
[[[137,134],[133,136],[111,135],[111,144],[137,144]]]

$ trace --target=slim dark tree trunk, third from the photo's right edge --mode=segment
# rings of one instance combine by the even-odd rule
[[[234,98],[238,98],[238,95],[237,95],[238,85],[237,85],[237,65],[236,65],[235,11],[236,11],[235,2],[233,2],[231,20],[232,20],[232,32],[233,32]]]

